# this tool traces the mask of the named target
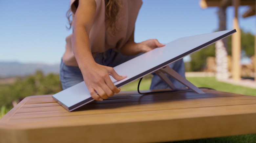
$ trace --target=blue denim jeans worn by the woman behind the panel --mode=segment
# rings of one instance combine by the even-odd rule
[[[142,54],[142,53],[141,53]],[[139,56],[139,55],[136,55]],[[120,52],[115,52],[112,49],[107,50],[104,53],[99,53],[96,55],[94,60],[96,63],[109,66],[109,67],[115,67],[123,62],[126,62],[136,56],[124,56]],[[184,69],[184,63],[183,60],[178,60],[170,65],[168,65],[170,68],[181,74],[183,77],[185,77],[185,69]],[[150,89],[164,89],[169,88],[168,85],[166,85],[155,73],[152,73],[154,76],[152,78]],[[177,87],[185,87],[178,81],[174,80],[173,78],[168,78],[172,81],[172,83]],[[80,82],[83,81],[83,76],[78,67],[73,66],[67,66],[61,61],[60,64],[60,81],[62,84],[62,88],[66,89],[68,87],[72,87]]]

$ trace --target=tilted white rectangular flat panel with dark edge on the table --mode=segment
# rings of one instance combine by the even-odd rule
[[[116,81],[112,76],[110,78],[115,86],[122,87],[235,32],[234,29],[179,38],[114,67],[119,75],[128,75],[127,78],[121,81]],[[53,99],[68,111],[94,100],[84,82],[54,94]]]

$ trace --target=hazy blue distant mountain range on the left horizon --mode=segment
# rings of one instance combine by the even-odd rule
[[[59,64],[23,64],[19,62],[0,62],[0,77],[26,76],[41,70],[43,73],[59,73]]]

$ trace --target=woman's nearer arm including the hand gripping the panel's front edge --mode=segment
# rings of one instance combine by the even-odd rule
[[[125,77],[118,75],[111,67],[97,64],[92,56],[89,33],[95,13],[95,0],[79,0],[71,40],[76,61],[92,98],[103,100],[120,91],[113,84],[109,75],[112,75],[117,81]]]

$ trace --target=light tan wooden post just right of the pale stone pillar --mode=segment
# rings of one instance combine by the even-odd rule
[[[237,31],[232,35],[232,77],[234,81],[239,81],[241,80],[241,30],[238,24],[238,7],[240,0],[232,0],[232,5],[235,9],[233,26]]]

